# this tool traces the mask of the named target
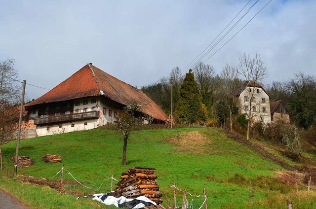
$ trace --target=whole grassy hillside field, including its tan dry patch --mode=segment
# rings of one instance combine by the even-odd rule
[[[301,166],[278,154],[266,142],[251,143],[261,144],[267,153],[277,156],[278,162],[284,165]],[[299,180],[297,193],[293,183],[295,175],[293,177],[293,173],[287,173],[282,163],[271,161],[249,145],[227,137],[224,131],[217,128],[134,131],[127,144],[126,167],[121,166],[123,142],[116,130],[94,129],[25,139],[20,143],[19,156],[30,156],[35,163],[29,168],[18,168],[20,176],[12,178],[13,163],[10,158],[15,154],[15,145],[16,141],[12,141],[2,147],[4,169],[0,172],[0,188],[31,208],[113,209],[113,206],[87,199],[76,200],[76,197],[109,192],[111,181],[108,178],[111,174],[119,180],[120,173],[132,167],[155,168],[160,192],[170,200],[173,200],[171,186],[174,181],[180,190],[186,189],[196,195],[202,195],[205,187],[208,208],[211,209],[285,209],[288,199],[292,201],[293,208],[316,208],[316,192],[307,192],[302,179]],[[42,157],[45,153],[61,155],[62,163],[44,163]],[[309,157],[315,160],[314,154],[309,154]],[[62,165],[90,189],[76,183],[68,172],[65,172],[65,185],[61,188],[60,174],[54,175]],[[280,180],[284,176],[287,178]],[[47,182],[47,185],[30,183],[33,177],[38,183]],[[289,182],[288,178],[293,179]],[[250,181],[252,203],[249,203]],[[203,197],[187,197],[193,209],[198,209],[204,201]],[[182,198],[183,193],[178,191],[178,206],[182,205]],[[164,197],[162,200],[162,205],[167,206]]]

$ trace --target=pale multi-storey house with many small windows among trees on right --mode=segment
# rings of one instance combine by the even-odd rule
[[[271,123],[269,95],[261,85],[253,81],[245,82],[232,96],[238,98],[241,114],[246,114],[253,122]]]

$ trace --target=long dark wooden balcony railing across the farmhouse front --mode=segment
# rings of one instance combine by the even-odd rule
[[[60,123],[66,121],[83,120],[88,118],[99,118],[99,111],[80,112],[68,115],[58,115],[45,118],[34,119],[35,125],[48,124],[48,123]]]

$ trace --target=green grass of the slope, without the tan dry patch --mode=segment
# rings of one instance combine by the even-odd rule
[[[193,130],[204,133],[208,136],[208,140],[212,140],[208,153],[178,152],[174,144],[167,142],[167,139],[180,132]],[[82,186],[68,186],[67,190],[77,190],[77,193],[84,195],[110,191],[109,180],[104,181],[99,191],[96,189],[111,174],[118,179],[121,172],[136,166],[156,168],[160,191],[166,193],[170,199],[173,190],[169,187],[173,181],[178,188],[187,189],[191,194],[201,195],[205,187],[208,204],[212,208],[270,208],[271,204],[274,204],[272,207],[277,207],[277,201],[270,205],[269,201],[275,195],[294,190],[294,188],[284,188],[284,185],[274,188],[269,177],[273,177],[276,170],[281,170],[278,165],[263,159],[245,145],[228,139],[221,130],[213,128],[135,131],[131,134],[127,145],[127,167],[121,166],[122,140],[118,131],[90,130],[39,137],[22,140],[20,147],[20,156],[30,156],[35,164],[30,168],[19,168],[19,174],[50,178],[60,170],[61,164],[44,163],[41,158],[45,153],[61,155],[65,169],[80,182],[92,188],[89,190]],[[13,164],[8,162],[8,159],[14,155],[15,142],[3,146],[2,149],[5,166],[10,167],[11,170]],[[4,173],[3,171],[0,174]],[[60,176],[55,178],[60,179]],[[65,178],[71,179],[71,176],[66,174]],[[250,180],[254,185],[253,205],[247,203]],[[91,207],[91,204],[100,206],[88,200],[76,201],[70,195],[56,195],[55,190],[47,186],[25,183],[20,186],[17,181],[5,177],[0,178],[0,188],[13,193],[32,208],[85,208]],[[37,195],[30,201],[27,195],[16,192],[16,188],[32,190],[35,193],[41,191],[51,203],[41,202]],[[288,197],[283,196],[280,202]],[[314,196],[311,198],[315,201]],[[182,202],[180,193],[177,199],[180,204]],[[310,199],[306,200],[308,201]],[[203,198],[193,198],[194,208],[198,208],[202,202]]]

